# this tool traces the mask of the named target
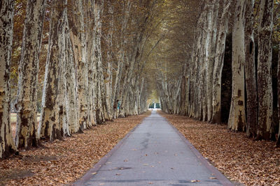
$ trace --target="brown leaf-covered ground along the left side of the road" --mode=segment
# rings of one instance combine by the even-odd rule
[[[83,176],[151,111],[108,121],[0,161],[0,185],[62,185]]]

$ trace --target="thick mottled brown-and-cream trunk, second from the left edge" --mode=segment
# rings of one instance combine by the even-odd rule
[[[27,15],[22,38],[19,65],[17,134],[18,148],[38,145],[37,132],[37,82],[39,52],[45,15],[45,0],[27,1]]]

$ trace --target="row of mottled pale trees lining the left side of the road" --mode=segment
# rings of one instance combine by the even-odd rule
[[[13,0],[0,4],[0,158],[18,148],[36,147],[39,139],[62,139],[118,116],[146,111],[147,80],[139,69],[155,2],[28,0],[14,142],[9,83],[14,5]],[[39,54],[46,20],[48,55],[37,124]]]

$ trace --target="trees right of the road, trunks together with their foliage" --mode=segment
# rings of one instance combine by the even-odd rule
[[[228,130],[276,140],[278,145],[279,69],[277,77],[272,67],[279,63],[280,1],[176,1],[176,5],[172,6],[178,15],[168,23],[171,43],[163,41],[165,49],[158,47],[164,53],[157,62],[163,111],[228,123]],[[182,54],[179,45],[184,46]],[[171,63],[179,68],[170,68]]]

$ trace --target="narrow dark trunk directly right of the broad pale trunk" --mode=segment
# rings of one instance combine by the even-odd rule
[[[254,0],[246,1],[245,24],[245,77],[246,77],[246,134],[248,137],[256,136],[258,124],[257,82],[255,77],[255,42],[253,39],[253,6]]]

